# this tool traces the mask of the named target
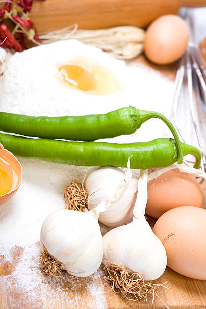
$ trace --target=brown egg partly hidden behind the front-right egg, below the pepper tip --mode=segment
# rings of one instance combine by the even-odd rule
[[[201,187],[193,175],[170,170],[148,182],[146,214],[159,218],[175,207],[201,207],[202,200]]]

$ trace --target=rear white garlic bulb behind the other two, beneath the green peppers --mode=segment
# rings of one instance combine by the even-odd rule
[[[116,194],[118,188],[117,201],[99,214],[100,222],[116,227],[131,219],[136,200],[137,179],[132,177],[129,160],[125,173],[110,166],[91,169],[85,176],[84,187],[88,191],[89,210]]]

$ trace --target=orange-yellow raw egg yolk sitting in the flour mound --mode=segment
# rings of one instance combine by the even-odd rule
[[[60,74],[69,84],[83,91],[91,91],[96,87],[94,76],[86,69],[77,65],[63,65],[59,68]]]

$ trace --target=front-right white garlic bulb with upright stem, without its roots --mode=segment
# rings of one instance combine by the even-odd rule
[[[141,170],[133,221],[103,237],[103,263],[115,263],[139,272],[145,280],[155,280],[165,271],[165,248],[144,217],[147,203],[147,170]],[[107,262],[106,262],[107,261]]]

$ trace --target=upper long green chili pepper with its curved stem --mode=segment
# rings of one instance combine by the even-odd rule
[[[169,127],[177,146],[177,162],[182,163],[180,140],[172,123],[161,113],[141,111],[132,106],[85,116],[34,117],[0,112],[0,130],[41,138],[94,141],[132,134],[150,118],[159,118]]]

